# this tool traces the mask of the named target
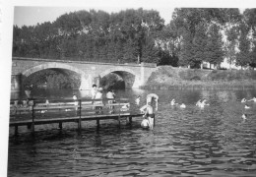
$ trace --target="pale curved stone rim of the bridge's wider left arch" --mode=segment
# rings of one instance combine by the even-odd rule
[[[71,65],[63,64],[63,63],[44,63],[41,65],[34,66],[22,73],[22,75],[29,77],[35,72],[41,71],[41,70],[46,70],[46,69],[64,69],[64,70],[69,70],[72,72],[77,73],[80,78],[81,78],[81,86],[79,89],[88,89],[90,85],[92,85],[90,82],[91,76],[87,76],[86,73],[76,67],[73,67]]]

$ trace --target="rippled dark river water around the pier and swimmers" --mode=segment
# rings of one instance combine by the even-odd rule
[[[117,96],[135,99],[152,91],[118,90]],[[256,90],[154,90],[160,96],[156,127],[140,128],[114,121],[77,126],[63,125],[28,131],[18,137],[10,129],[8,176],[255,176],[256,103],[244,109],[243,97],[256,96]],[[33,92],[37,97],[68,97],[76,90]],[[50,96],[51,95],[51,96]],[[172,107],[170,100],[185,103]],[[203,109],[199,98],[209,100]],[[246,113],[247,120],[241,115]],[[26,129],[25,129],[26,130]]]

